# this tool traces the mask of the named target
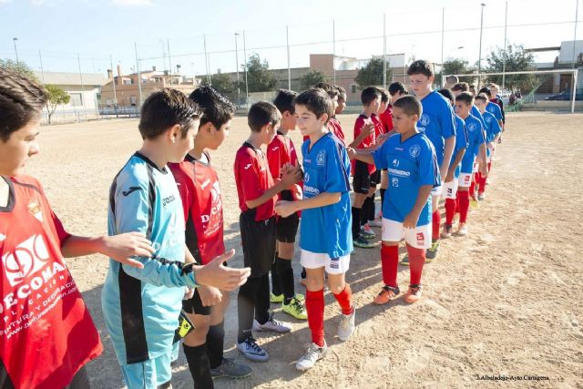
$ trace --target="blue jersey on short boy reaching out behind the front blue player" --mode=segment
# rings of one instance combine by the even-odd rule
[[[377,169],[387,169],[389,173],[389,188],[383,203],[385,219],[403,222],[413,210],[422,186],[441,185],[435,148],[423,133],[404,142],[401,142],[401,134],[394,134],[373,152],[373,159]],[[428,196],[417,226],[430,222],[431,196]]]

